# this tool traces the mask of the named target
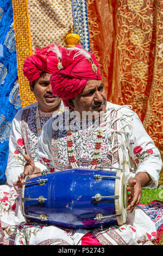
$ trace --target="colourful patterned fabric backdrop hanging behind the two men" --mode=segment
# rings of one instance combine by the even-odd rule
[[[133,105],[162,152],[162,8],[156,0],[0,0],[0,182],[12,119],[35,102],[23,60],[35,47],[65,46],[72,26],[99,61],[108,100]]]

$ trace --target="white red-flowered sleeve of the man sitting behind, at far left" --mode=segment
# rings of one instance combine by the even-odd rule
[[[18,180],[18,175],[23,173],[24,160],[23,154],[25,153],[22,132],[21,132],[21,115],[22,111],[18,111],[12,120],[12,126],[9,139],[9,156],[7,169],[5,175],[7,177],[7,183],[13,186],[13,182]]]

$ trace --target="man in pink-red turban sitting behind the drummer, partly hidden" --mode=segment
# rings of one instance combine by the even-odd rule
[[[3,223],[6,227],[24,221],[23,216],[18,215],[20,202],[15,200],[18,187],[15,188],[13,185],[23,183],[24,164],[26,159],[31,162],[35,159],[37,141],[43,125],[52,115],[64,111],[61,99],[52,94],[50,83],[51,75],[61,68],[60,57],[64,50],[57,45],[36,48],[35,54],[24,60],[24,76],[28,78],[30,89],[37,101],[20,109],[12,121],[5,172],[8,185],[1,186],[0,192],[0,198],[6,196],[6,200],[2,200],[0,206],[2,227]],[[49,171],[53,172],[53,168]]]

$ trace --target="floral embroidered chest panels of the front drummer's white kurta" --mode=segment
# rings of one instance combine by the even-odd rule
[[[61,120],[65,120],[64,113]],[[110,112],[110,119],[114,116],[117,117],[117,112]],[[62,123],[61,127],[64,127]],[[82,125],[81,125],[82,126]],[[101,150],[99,155],[99,161],[97,166],[111,167],[119,161],[118,158],[118,138],[117,138],[117,123],[111,125],[111,129],[114,131],[109,137],[102,138]],[[95,150],[95,142],[97,137],[96,129],[93,130],[90,126],[88,129],[79,131],[73,131],[73,143],[75,148],[76,159],[79,161],[79,166],[89,168],[92,161],[93,153]],[[109,150],[110,144],[112,145],[112,151]],[[66,170],[70,169],[70,161],[67,153],[67,131],[55,131],[53,130],[53,137],[51,142],[52,160],[55,169]]]

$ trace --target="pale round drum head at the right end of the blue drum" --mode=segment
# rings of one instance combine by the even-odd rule
[[[119,176],[120,179],[115,181],[115,195],[119,196],[118,199],[115,199],[115,210],[116,214],[121,214],[121,216],[117,217],[118,225],[123,225],[127,218],[127,184],[124,173],[121,170],[117,171],[116,176]]]

